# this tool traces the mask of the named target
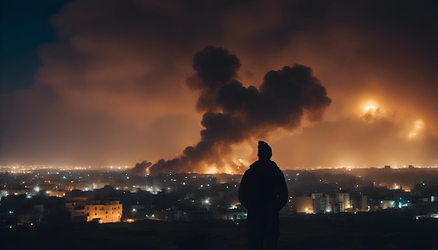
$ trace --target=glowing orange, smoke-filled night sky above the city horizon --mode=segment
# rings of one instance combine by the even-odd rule
[[[437,10],[1,1],[0,166],[435,167]]]

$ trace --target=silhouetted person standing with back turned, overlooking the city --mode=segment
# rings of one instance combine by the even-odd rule
[[[258,142],[259,160],[250,165],[239,187],[240,203],[248,209],[249,249],[277,249],[279,232],[278,212],[288,201],[288,187],[283,172],[271,161],[272,149]]]

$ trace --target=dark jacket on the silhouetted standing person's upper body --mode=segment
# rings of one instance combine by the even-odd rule
[[[243,175],[239,187],[241,205],[250,213],[278,214],[288,201],[283,172],[274,161],[255,161]]]

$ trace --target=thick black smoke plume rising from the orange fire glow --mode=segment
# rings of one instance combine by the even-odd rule
[[[160,159],[148,168],[158,172],[218,172],[236,168],[228,160],[232,145],[257,138],[277,128],[297,128],[302,119],[322,119],[331,99],[311,68],[296,64],[264,75],[260,87],[244,87],[236,80],[241,64],[222,47],[207,46],[193,57],[196,75],[190,89],[200,91],[197,109],[203,111],[201,140],[170,160]]]

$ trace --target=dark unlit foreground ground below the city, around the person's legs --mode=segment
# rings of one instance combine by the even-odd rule
[[[437,249],[438,219],[388,214],[296,216],[281,221],[279,249]],[[0,249],[246,249],[229,221],[40,225],[0,230]]]

